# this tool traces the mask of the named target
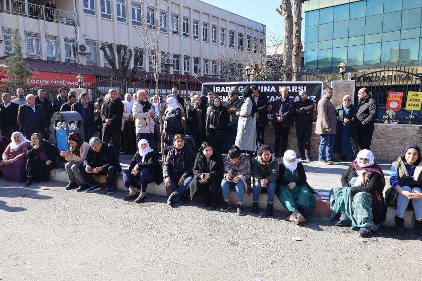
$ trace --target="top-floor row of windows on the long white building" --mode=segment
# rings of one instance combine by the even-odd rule
[[[94,0],[84,0],[83,1],[83,8],[84,13],[88,15],[95,15],[95,1]],[[101,18],[104,19],[112,19],[112,12],[111,12],[111,0],[101,0]],[[127,22],[127,16],[126,16],[126,2],[125,0],[117,0],[116,3],[116,16],[117,21],[126,23]],[[149,29],[155,29],[156,28],[156,11],[155,8],[147,7],[146,11],[146,17],[143,20],[142,18],[142,7],[141,4],[138,3],[131,3],[131,20],[132,24],[135,26],[142,26],[144,21],[145,24]],[[160,10],[159,11],[159,29],[161,32],[168,32],[167,28],[167,11]],[[179,35],[180,31],[183,34],[183,37],[189,37],[190,36],[190,22],[189,18],[183,16],[182,17],[182,30],[180,30],[180,23],[179,23],[179,15],[171,13],[171,33],[174,35]],[[198,20],[192,20],[192,38],[195,40],[199,40],[199,21]],[[211,29],[209,34],[209,28]],[[213,44],[218,44],[218,27],[216,25],[209,26],[208,23],[202,23],[201,26],[202,30],[202,41],[203,42],[211,42]],[[236,32],[233,30],[228,30],[228,40],[227,40],[227,46],[230,48],[235,48],[236,45]],[[210,40],[210,41],[209,41]],[[246,48],[247,51],[251,51],[251,48],[253,48],[253,52],[257,53],[258,49],[258,39],[256,37],[253,38],[250,35],[246,36],[246,44],[245,44],[245,34],[239,33],[237,34],[237,48],[239,50],[243,50]],[[252,46],[253,44],[253,46]],[[220,45],[226,46],[226,29],[220,28]],[[245,46],[246,45],[246,46]],[[264,53],[264,40],[259,39],[259,48],[260,53]]]

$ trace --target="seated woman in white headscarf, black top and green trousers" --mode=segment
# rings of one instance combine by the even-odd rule
[[[294,224],[303,223],[305,217],[297,208],[305,212],[315,208],[315,192],[306,182],[303,164],[296,159],[296,152],[289,149],[284,152],[283,163],[278,168],[276,195],[281,205],[291,212],[287,219]]]

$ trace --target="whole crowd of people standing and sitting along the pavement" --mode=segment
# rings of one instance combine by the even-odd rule
[[[5,92],[0,105],[0,169],[7,181],[26,181],[29,186],[33,181],[48,180],[58,157],[64,157],[69,178],[66,190],[97,191],[101,189],[98,176],[102,175],[106,177],[107,194],[113,194],[117,175],[123,173],[123,183],[129,190],[125,201],[143,203],[148,184],[164,182],[169,190],[168,205],[183,204],[187,198],[196,200],[200,196],[201,206],[207,210],[219,208],[227,212],[234,204],[237,215],[244,214],[245,193],[252,193],[252,213],[258,214],[259,197],[265,191],[266,216],[272,216],[276,196],[290,212],[289,221],[305,222],[304,215],[315,208],[315,192],[306,181],[300,160],[311,160],[313,102],[305,91],[300,91],[294,102],[286,86],[281,87],[271,111],[267,97],[257,85],[245,87],[243,99],[239,96],[232,90],[228,100],[223,101],[213,92],[201,97],[192,92],[185,103],[178,89],[173,88],[164,104],[157,96],[148,99],[144,89],[123,97],[118,90],[110,89],[104,99],[93,104],[87,92],[76,97],[76,92],[66,88],[59,89],[53,103],[43,89],[38,90],[37,97],[25,96],[23,89],[18,89],[14,98]],[[335,225],[350,226],[367,237],[385,221],[386,203],[397,204],[395,225],[402,233],[404,211],[411,201],[414,231],[422,235],[419,147],[404,147],[402,155],[392,163],[391,178],[386,183],[370,151],[378,111],[376,101],[366,88],[359,89],[357,107],[352,105],[350,96],[345,96],[342,105],[335,108],[332,97],[333,89],[325,88],[317,106],[319,161],[338,161],[333,152],[344,160],[351,157],[352,161],[341,176],[342,186],[330,192]],[[58,111],[76,111],[82,117],[76,126],[81,128],[83,124],[83,136],[79,132],[68,135],[70,151],[57,151],[48,141],[54,125],[51,117]],[[265,143],[270,114],[275,131],[274,150]],[[162,141],[168,147],[162,166],[158,160],[160,121],[164,128]],[[293,123],[299,155],[288,149]],[[121,153],[134,154],[127,170],[122,170]],[[236,192],[235,202],[231,202],[231,190]]]

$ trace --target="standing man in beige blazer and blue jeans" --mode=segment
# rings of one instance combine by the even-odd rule
[[[331,165],[330,162],[338,162],[333,157],[337,115],[336,108],[331,103],[331,98],[333,98],[333,88],[325,88],[323,98],[318,102],[318,117],[315,126],[315,134],[320,134],[321,137],[318,160],[328,165]]]

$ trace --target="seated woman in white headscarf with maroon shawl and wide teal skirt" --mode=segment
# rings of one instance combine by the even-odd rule
[[[334,225],[360,228],[359,235],[368,237],[371,231],[379,229],[387,213],[382,194],[384,174],[374,162],[372,152],[359,151],[341,180],[343,187],[330,191],[331,219],[340,213],[340,219]]]

